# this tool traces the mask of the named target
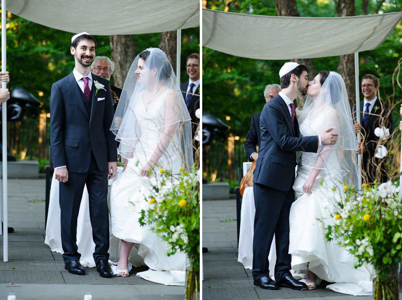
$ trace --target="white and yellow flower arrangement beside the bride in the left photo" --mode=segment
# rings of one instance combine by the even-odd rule
[[[151,193],[145,197],[150,203],[141,211],[139,223],[148,225],[168,244],[167,255],[177,251],[187,253],[190,270],[186,274],[186,299],[199,291],[200,271],[200,194],[196,168],[180,169],[179,174],[159,170]]]

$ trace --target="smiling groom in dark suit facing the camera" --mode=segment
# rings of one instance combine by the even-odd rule
[[[75,68],[53,84],[50,96],[50,143],[59,181],[63,259],[68,272],[85,273],[77,251],[77,216],[86,184],[96,270],[102,277],[111,277],[108,174],[112,178],[117,172],[116,141],[109,130],[114,115],[112,93],[108,80],[90,72],[96,39],[81,33],[71,43]]]

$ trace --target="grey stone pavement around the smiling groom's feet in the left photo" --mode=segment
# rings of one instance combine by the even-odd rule
[[[2,182],[1,182],[2,189]],[[102,278],[96,268],[85,267],[86,275],[68,273],[61,254],[44,244],[44,179],[8,180],[8,262],[3,262],[0,236],[0,300],[183,300],[183,286],[165,286],[135,276],[147,268],[134,268],[127,278]],[[31,201],[28,200],[37,200]]]

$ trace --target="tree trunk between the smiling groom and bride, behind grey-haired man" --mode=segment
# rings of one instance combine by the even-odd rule
[[[136,56],[134,36],[110,35],[109,39],[112,59],[115,62],[115,71],[113,72],[114,84],[118,88],[123,88],[127,73]]]

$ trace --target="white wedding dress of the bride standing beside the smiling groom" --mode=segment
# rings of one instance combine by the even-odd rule
[[[136,126],[140,126],[141,137],[135,145],[133,158],[128,160],[127,168],[123,174],[112,184],[111,191],[111,217],[112,233],[114,236],[138,245],[138,254],[144,259],[150,270],[137,273],[138,277],[165,285],[184,285],[186,254],[177,252],[167,256],[168,245],[147,226],[141,227],[138,219],[141,210],[146,210],[149,203],[144,200],[155,184],[158,171],[150,177],[141,176],[141,168],[153,155],[161,138],[163,116],[165,114],[165,96],[168,91],[161,94],[148,109],[143,101],[136,101],[134,114]],[[140,97],[142,94],[140,93]],[[131,127],[133,128],[133,127]],[[160,168],[171,169],[178,173],[181,159],[175,146],[180,145],[178,135],[165,150],[157,162],[155,170]]]

